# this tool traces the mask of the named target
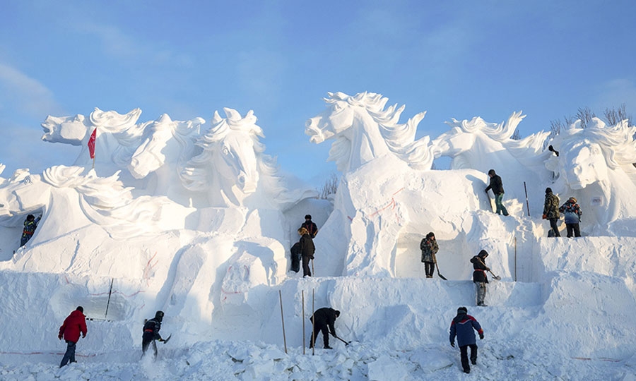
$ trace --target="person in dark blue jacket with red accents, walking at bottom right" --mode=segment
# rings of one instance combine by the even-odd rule
[[[474,330],[473,330],[474,329]],[[461,366],[464,373],[471,373],[471,365],[468,362],[468,347],[471,347],[471,363],[477,364],[477,341],[475,339],[475,331],[479,334],[479,339],[483,340],[483,329],[479,322],[468,315],[466,307],[457,308],[457,316],[451,322],[449,339],[451,346],[455,347],[455,336],[457,335],[457,345],[461,353]]]

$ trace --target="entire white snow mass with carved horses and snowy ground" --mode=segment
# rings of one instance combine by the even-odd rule
[[[481,377],[634,380],[636,238],[616,234],[632,226],[631,201],[620,191],[633,186],[630,169],[607,162],[625,175],[587,176],[578,197],[587,200],[594,186],[604,193],[581,204],[584,237],[544,238],[543,189],[574,189],[568,171],[580,156],[559,167],[538,148],[542,133],[510,142],[520,113],[501,125],[454,121],[449,133],[414,140],[424,114],[400,124],[401,108],[383,110],[385,102],[337,93],[307,123],[313,141],[336,142],[330,155],[344,173],[332,202],[290,188],[293,179],[285,185],[251,112],[225,109],[209,125],[168,116],[137,123],[139,110],[49,117],[45,140],[83,148],[72,167],[0,178],[0,317],[8,327],[0,377],[469,379],[448,344],[450,321],[467,306],[485,329],[473,367]],[[93,170],[85,147],[94,128]],[[454,169],[430,170],[442,155]],[[510,164],[495,168],[510,190],[509,217],[493,213],[480,157]],[[518,188],[526,179],[527,204]],[[42,221],[17,249],[28,213]],[[312,278],[288,271],[288,248],[307,213],[319,225]],[[429,231],[447,281],[423,276],[419,243]],[[502,277],[491,280],[485,308],[473,307],[470,280],[469,259],[481,249]],[[57,329],[79,305],[90,318],[80,362],[57,369]],[[333,351],[311,356],[302,350],[308,317],[324,306],[341,310],[336,330],[351,344],[332,337]],[[162,334],[173,337],[159,344],[157,362],[139,361],[141,325],[155,310],[165,311]]]

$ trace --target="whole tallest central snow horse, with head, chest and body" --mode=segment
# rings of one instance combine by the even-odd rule
[[[478,252],[484,226],[490,224],[482,219],[493,217],[481,211],[488,207],[485,173],[430,171],[428,136],[413,141],[423,113],[399,125],[404,107],[382,111],[387,99],[381,95],[329,96],[327,111],[305,125],[314,143],[336,140],[330,159],[343,171],[334,213],[314,241],[321,263],[317,274],[417,276],[410,270],[413,261],[405,258],[418,255],[420,239],[428,231],[457,249],[444,254],[451,262],[461,260],[466,250]],[[511,219],[510,224],[516,222]],[[505,243],[489,244],[497,252],[506,250]],[[457,279],[462,276],[458,270]]]

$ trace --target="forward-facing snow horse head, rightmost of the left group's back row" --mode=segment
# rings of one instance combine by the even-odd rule
[[[235,109],[225,108],[226,118],[214,112],[211,128],[196,145],[199,155],[192,157],[182,171],[184,186],[190,191],[206,192],[213,207],[270,207],[285,210],[315,191],[290,192],[278,175],[276,159],[265,155],[259,141],[263,130],[257,117],[248,111],[242,117]]]

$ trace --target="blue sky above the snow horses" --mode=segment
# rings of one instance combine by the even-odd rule
[[[522,136],[590,107],[636,114],[636,2],[0,0],[0,162],[5,177],[71,164],[79,147],[40,140],[46,116],[121,113],[139,121],[249,109],[266,153],[316,186],[331,142],[305,121],[326,92],[379,92],[444,121],[500,122]]]

